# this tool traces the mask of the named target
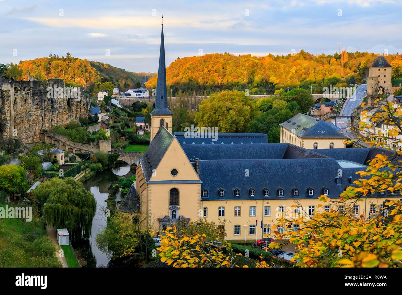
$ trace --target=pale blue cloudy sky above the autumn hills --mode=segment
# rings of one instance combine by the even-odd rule
[[[162,14],[167,65],[225,51],[332,54],[337,43],[402,53],[401,10],[402,0],[0,0],[0,63],[70,52],[155,72]]]

